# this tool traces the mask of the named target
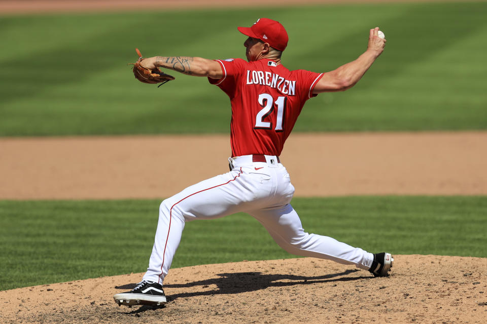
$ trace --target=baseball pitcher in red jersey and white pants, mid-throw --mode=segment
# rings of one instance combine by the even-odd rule
[[[173,80],[162,73],[162,67],[206,76],[210,84],[223,90],[232,108],[232,156],[228,173],[201,181],[162,202],[147,272],[133,290],[114,296],[119,305],[166,303],[162,284],[185,223],[239,212],[255,217],[289,253],[355,265],[374,276],[389,275],[391,254],[372,254],[304,231],[290,205],[294,187],[279,157],[304,103],[322,92],[353,87],[382,53],[386,39],[378,36],[378,27],[370,29],[367,50],[355,61],[330,72],[316,73],[290,71],[282,64],[288,34],[281,23],[260,18],[251,27],[238,30],[248,36],[243,43],[247,61],[156,56],[141,57],[134,65],[134,74],[142,82]],[[152,76],[158,79],[147,79]]]

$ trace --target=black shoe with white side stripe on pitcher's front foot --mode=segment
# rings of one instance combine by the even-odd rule
[[[149,305],[160,306],[166,303],[162,286],[157,282],[141,281],[129,292],[115,294],[113,299],[118,306]]]

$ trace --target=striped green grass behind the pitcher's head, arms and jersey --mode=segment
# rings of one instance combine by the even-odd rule
[[[297,131],[487,129],[486,12],[487,3],[435,3],[0,16],[0,136],[228,133],[217,87],[178,74],[157,89],[126,63],[135,47],[244,57],[236,27],[259,17],[286,26],[290,69],[335,69],[365,50],[369,28],[386,33],[363,80],[310,100]],[[141,28],[148,21],[155,27]]]

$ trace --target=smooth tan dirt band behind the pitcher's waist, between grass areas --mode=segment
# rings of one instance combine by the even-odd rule
[[[292,134],[295,196],[486,195],[487,132]],[[228,135],[0,138],[0,199],[165,198],[228,171]]]

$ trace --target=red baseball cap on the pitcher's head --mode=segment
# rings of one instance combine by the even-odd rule
[[[269,43],[276,50],[284,51],[286,46],[288,46],[288,33],[279,21],[259,18],[252,27],[238,27],[237,29],[244,35]]]

